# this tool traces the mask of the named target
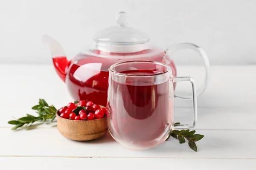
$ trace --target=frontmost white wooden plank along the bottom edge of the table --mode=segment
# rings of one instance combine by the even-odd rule
[[[255,170],[256,160],[0,157],[1,170],[244,170],[245,168]]]

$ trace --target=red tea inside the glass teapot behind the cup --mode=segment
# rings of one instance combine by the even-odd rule
[[[98,53],[99,52],[100,51],[98,51]],[[133,55],[136,54],[137,53],[133,53]],[[131,54],[127,53],[124,55],[129,56]],[[176,76],[174,63],[166,59],[163,53],[159,53],[159,55],[156,56],[144,57],[142,59],[167,62],[173,68],[173,74]],[[78,59],[71,61],[68,61],[66,57],[52,58],[55,70],[61,79],[66,82],[68,91],[73,99],[92,101],[102,106],[106,106],[107,104],[108,69],[114,63],[125,60],[131,59],[129,57],[123,59],[120,59],[119,57],[109,59],[88,55],[78,56]]]

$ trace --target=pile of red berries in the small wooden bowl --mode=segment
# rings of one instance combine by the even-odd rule
[[[101,108],[98,104],[93,104],[90,101],[81,100],[67,104],[67,106],[60,108],[58,113],[64,119],[93,120],[103,118],[106,115],[106,108]]]

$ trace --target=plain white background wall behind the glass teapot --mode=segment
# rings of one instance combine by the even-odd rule
[[[119,11],[162,48],[193,42],[211,64],[256,64],[256,0],[0,0],[0,63],[51,63],[43,34],[71,58],[93,45],[96,31],[115,26]],[[191,51],[174,59],[201,63]]]

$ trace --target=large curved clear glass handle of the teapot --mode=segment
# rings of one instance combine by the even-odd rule
[[[197,90],[197,96],[201,96],[201,94],[204,93],[204,90],[206,89],[206,87],[208,85],[208,82],[209,82],[209,68],[210,68],[209,59],[208,59],[206,53],[204,52],[204,50],[202,48],[198,47],[195,44],[186,43],[186,42],[169,46],[169,48],[166,49],[165,53],[167,54],[167,56],[169,56],[168,53],[173,52],[173,51],[177,51],[177,50],[180,50],[180,49],[195,50],[196,52],[198,52],[200,54],[200,56],[204,60],[204,66],[205,66],[204,83]],[[192,99],[192,96],[189,96],[189,95],[183,96],[183,95],[180,95],[180,94],[175,94],[174,96],[177,97],[177,98],[180,98],[180,99]]]

